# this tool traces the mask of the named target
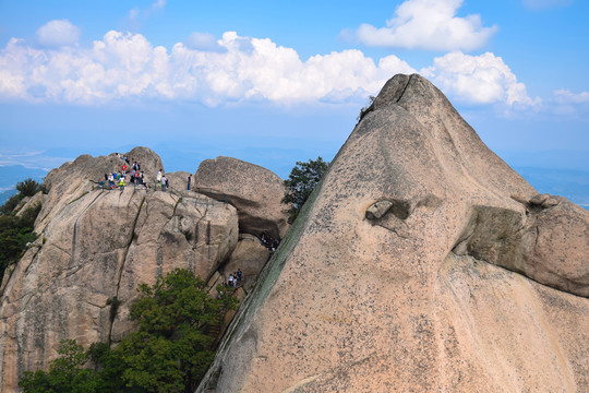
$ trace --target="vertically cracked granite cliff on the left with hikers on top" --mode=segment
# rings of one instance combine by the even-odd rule
[[[127,155],[146,171],[161,167],[145,148]],[[121,163],[113,155],[81,156],[48,175],[35,226],[40,236],[3,281],[1,392],[16,391],[24,370],[46,368],[61,340],[119,341],[134,327],[128,305],[140,283],[176,267],[207,279],[237,247],[238,214],[227,203],[187,191],[92,190],[91,180]],[[115,319],[112,298],[122,301]]]

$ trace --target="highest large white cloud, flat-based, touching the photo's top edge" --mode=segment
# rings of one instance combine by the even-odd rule
[[[456,16],[461,4],[462,0],[407,0],[386,21],[386,27],[362,24],[356,31],[356,38],[368,46],[408,49],[481,48],[497,27],[483,27],[478,14]]]

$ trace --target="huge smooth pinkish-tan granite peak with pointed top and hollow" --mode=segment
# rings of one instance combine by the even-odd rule
[[[589,215],[397,75],[264,267],[197,392],[589,391]]]

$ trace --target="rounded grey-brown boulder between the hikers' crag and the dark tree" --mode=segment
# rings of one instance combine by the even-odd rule
[[[205,159],[194,175],[195,190],[236,206],[239,229],[260,236],[281,238],[288,229],[283,180],[261,166],[231,157]]]

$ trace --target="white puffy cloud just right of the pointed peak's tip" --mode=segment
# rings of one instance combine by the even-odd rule
[[[508,106],[537,106],[540,99],[528,96],[526,85],[501,57],[491,52],[480,56],[454,51],[433,61],[421,70],[446,94],[471,104],[504,103]]]

